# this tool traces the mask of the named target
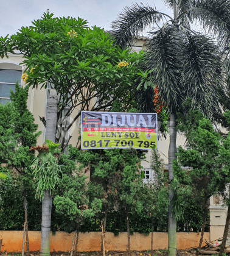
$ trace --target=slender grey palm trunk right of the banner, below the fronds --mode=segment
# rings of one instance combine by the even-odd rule
[[[173,180],[172,160],[176,158],[176,113],[170,113],[169,119],[169,185]],[[172,198],[174,191],[169,187],[168,213],[168,255],[176,255],[176,219],[172,217]]]

